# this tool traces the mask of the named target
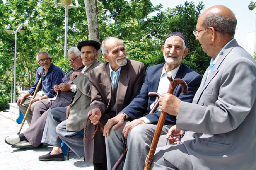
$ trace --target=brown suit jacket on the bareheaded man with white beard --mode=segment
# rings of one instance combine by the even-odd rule
[[[127,64],[121,68],[116,96],[116,115],[125,108],[136,96],[144,81],[144,64],[139,61],[127,60]],[[89,75],[91,88],[91,108],[99,108],[102,114],[100,122],[105,125],[109,118],[106,113],[110,107],[111,80],[108,62],[94,68]],[[87,126],[86,136],[92,138],[96,126]],[[103,133],[98,129],[94,140],[84,139],[84,155],[86,162],[103,163],[106,157],[106,146]]]

